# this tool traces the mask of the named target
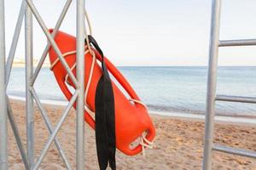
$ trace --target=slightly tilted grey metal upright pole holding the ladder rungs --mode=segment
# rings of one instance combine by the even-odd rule
[[[207,81],[207,111],[205,124],[205,142],[203,169],[212,169],[212,141],[213,125],[215,112],[215,97],[217,84],[218,68],[218,38],[220,23],[221,0],[212,0],[212,20],[211,20],[211,37],[208,63],[208,81]]]

